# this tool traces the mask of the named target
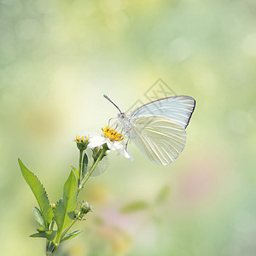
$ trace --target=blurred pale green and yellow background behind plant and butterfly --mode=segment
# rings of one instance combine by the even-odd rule
[[[132,144],[133,162],[112,152],[59,254],[256,254],[254,0],[1,0],[0,67],[2,255],[44,255],[17,158],[57,201],[73,138],[116,116],[102,94],[128,109],[159,78],[197,102],[183,154],[157,166]],[[122,211],[134,201],[151,208]]]

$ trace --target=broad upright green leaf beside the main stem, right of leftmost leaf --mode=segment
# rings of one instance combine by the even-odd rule
[[[55,207],[55,221],[58,227],[58,238],[75,217],[77,206],[77,183],[73,172],[70,172],[67,182],[64,184],[63,199],[57,202]]]

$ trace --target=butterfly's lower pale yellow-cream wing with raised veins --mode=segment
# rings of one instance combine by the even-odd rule
[[[186,131],[162,116],[139,115],[132,119],[134,128],[128,136],[151,161],[166,166],[183,151]]]

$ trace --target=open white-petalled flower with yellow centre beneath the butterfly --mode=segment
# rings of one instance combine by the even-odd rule
[[[103,136],[95,136],[91,137],[90,143],[88,145],[89,148],[100,147],[103,144],[107,143],[109,150],[117,150],[120,154],[125,155],[126,158],[132,160],[131,154],[125,150],[124,145],[121,143],[124,140],[122,134],[110,129],[109,126],[105,126],[102,128]]]

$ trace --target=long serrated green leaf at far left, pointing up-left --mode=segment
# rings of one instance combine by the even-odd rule
[[[26,183],[32,189],[32,192],[38,201],[38,205],[44,218],[44,226],[48,228],[49,223],[53,218],[53,210],[49,205],[49,199],[44,189],[44,186],[42,185],[42,183],[40,183],[38,177],[36,177],[32,172],[30,172],[26,168],[26,166],[23,165],[20,159],[19,164],[20,170],[22,172],[23,177],[26,180]]]

